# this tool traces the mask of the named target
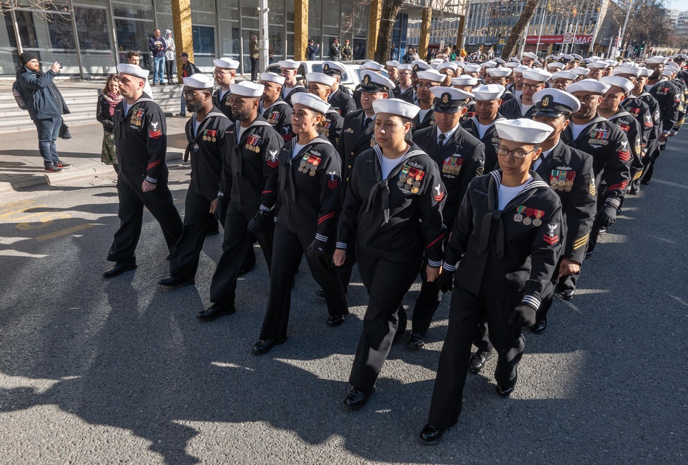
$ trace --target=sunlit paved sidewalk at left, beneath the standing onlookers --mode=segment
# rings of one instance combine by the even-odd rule
[[[167,117],[167,162],[181,160],[186,149],[186,118]],[[38,149],[36,131],[0,135],[0,195],[25,188],[58,186],[77,179],[114,173],[110,165],[100,162],[103,126],[100,123],[70,127],[72,138],[57,140],[60,159],[72,164],[62,173],[45,173]]]

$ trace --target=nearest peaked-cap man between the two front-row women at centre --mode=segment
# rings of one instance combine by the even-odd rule
[[[388,98],[392,89],[394,89],[394,83],[382,74],[372,71],[361,72],[361,106],[363,108],[350,112],[344,118],[342,133],[337,144],[337,152],[343,164],[343,194],[346,193],[347,184],[358,155],[376,145],[373,102]],[[345,263],[337,268],[345,289],[349,285],[351,273],[356,264],[355,244],[349,244],[348,252]]]

